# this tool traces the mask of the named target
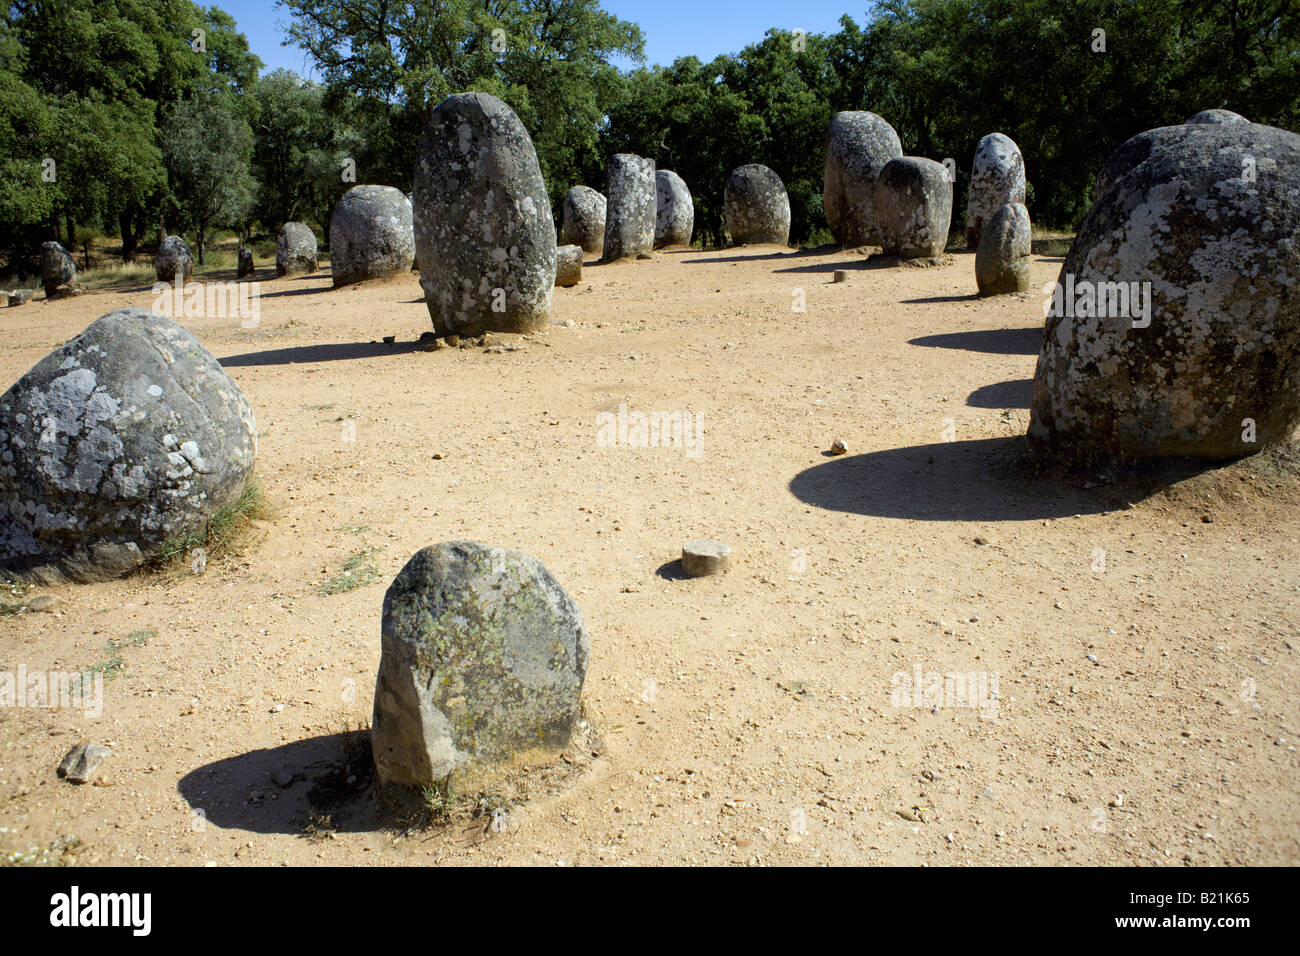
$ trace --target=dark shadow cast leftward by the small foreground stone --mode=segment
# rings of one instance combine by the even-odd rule
[[[369,750],[364,730],[295,740],[191,770],[177,790],[224,830],[300,834],[316,814],[329,814],[342,832],[378,830]]]

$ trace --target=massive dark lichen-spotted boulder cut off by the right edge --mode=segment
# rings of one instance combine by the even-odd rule
[[[1114,178],[1061,267],[1031,445],[1088,462],[1287,441],[1300,424],[1300,135],[1235,122],[1135,139],[1108,160]]]

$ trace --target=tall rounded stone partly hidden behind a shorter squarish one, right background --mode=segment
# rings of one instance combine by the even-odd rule
[[[875,113],[845,111],[826,130],[822,206],[831,234],[841,246],[879,246],[876,177],[885,163],[902,156],[894,127]]]

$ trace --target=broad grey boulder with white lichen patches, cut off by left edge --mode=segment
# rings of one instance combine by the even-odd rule
[[[113,578],[243,493],[252,410],[188,330],[121,308],[0,397],[0,566]]]

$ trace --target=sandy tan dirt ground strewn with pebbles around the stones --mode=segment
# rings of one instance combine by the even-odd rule
[[[1058,269],[1036,256],[1035,287]],[[1300,862],[1295,480],[1035,476],[1043,299],[975,298],[971,255],[589,265],[547,330],[495,337],[510,351],[411,345],[413,274],[259,278],[257,328],[185,323],[256,410],[278,515],[202,574],[40,588],[53,613],[0,618],[0,670],[122,663],[98,719],[0,709],[4,856]],[[152,300],[6,310],[0,381]],[[620,405],[701,415],[701,454],[598,446]],[[694,537],[729,542],[731,571],[681,578]],[[497,827],[403,834],[361,793],[312,830],[308,795],[369,722],[384,589],[451,538],[532,554],[577,601],[595,743]],[[358,554],[374,580],[322,593]],[[918,669],[996,697],[900,701]],[[108,786],[56,778],[81,736],[113,749]]]

